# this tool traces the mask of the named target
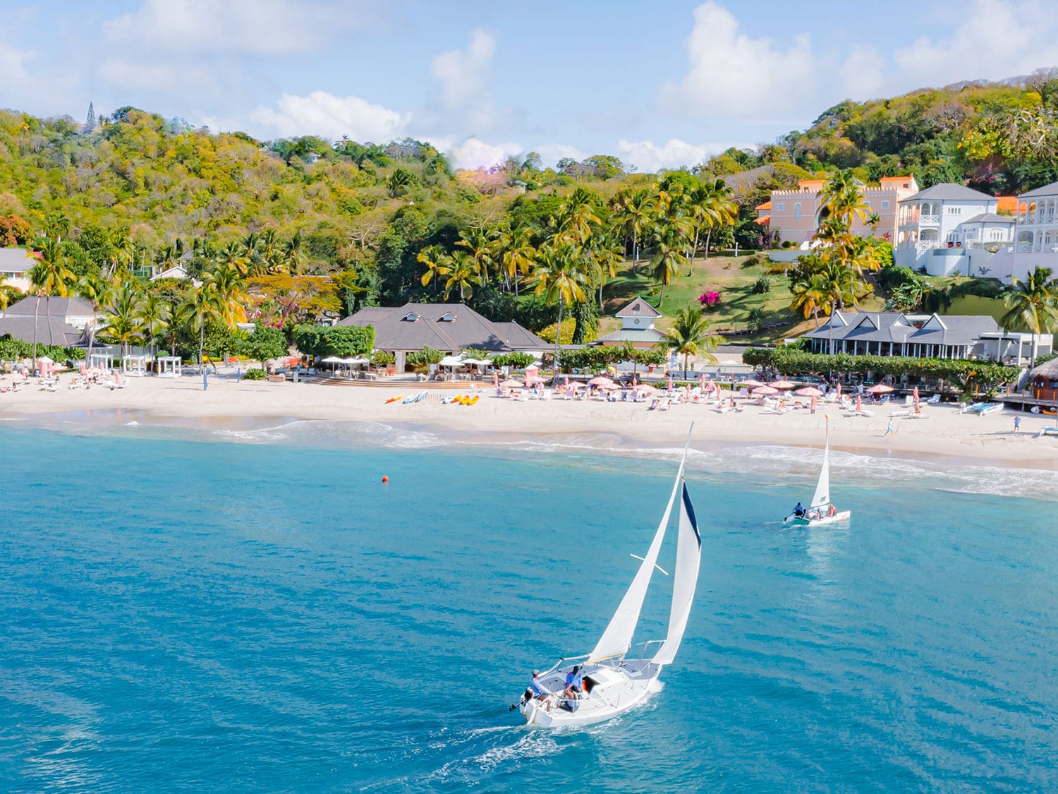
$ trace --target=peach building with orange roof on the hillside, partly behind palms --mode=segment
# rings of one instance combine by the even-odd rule
[[[781,242],[807,248],[819,228],[819,194],[825,184],[823,179],[802,179],[796,191],[772,191],[771,199],[756,207],[756,222],[779,232]],[[882,177],[876,187],[864,187],[863,200],[879,220],[874,227],[857,220],[852,231],[890,242],[896,240],[899,203],[917,192],[918,183],[911,175]]]

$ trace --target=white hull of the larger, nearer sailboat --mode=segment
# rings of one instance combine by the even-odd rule
[[[661,668],[650,660],[625,660],[585,665],[585,679],[598,680],[590,691],[574,700],[563,697],[565,675],[569,668],[559,669],[542,676],[542,683],[555,693],[544,699],[523,701],[518,710],[528,725],[564,727],[591,725],[617,717],[642,703],[661,689],[658,673]],[[587,687],[586,687],[587,688]],[[572,710],[564,707],[568,703]]]

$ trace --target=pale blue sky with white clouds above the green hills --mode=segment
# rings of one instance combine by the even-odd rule
[[[261,139],[693,165],[870,98],[1058,66],[1038,0],[0,0],[0,107]]]

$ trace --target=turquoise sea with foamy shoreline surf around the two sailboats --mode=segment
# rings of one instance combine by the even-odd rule
[[[507,707],[591,648],[675,471],[552,440],[8,423],[0,789],[1058,789],[1055,475],[835,454],[851,526],[786,529],[818,453],[698,452],[664,688],[552,733]]]

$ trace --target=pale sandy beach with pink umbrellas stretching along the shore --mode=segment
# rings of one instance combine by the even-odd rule
[[[710,445],[764,444],[818,447],[823,439],[824,414],[831,418],[834,449],[908,458],[947,457],[975,463],[1058,470],[1058,437],[1040,437],[1053,427],[1054,417],[1021,416],[1020,432],[1014,431],[1015,413],[988,416],[961,415],[953,404],[925,405],[924,418],[895,416],[902,405],[871,407],[873,416],[853,416],[834,404],[821,404],[815,414],[807,409],[785,414],[765,413],[746,405],[741,413],[718,413],[705,404],[686,403],[669,411],[650,411],[647,403],[599,402],[564,399],[517,401],[495,397],[491,389],[480,392],[475,405],[443,404],[444,395],[466,393],[432,390],[428,399],[414,404],[386,399],[419,391],[416,383],[390,385],[323,385],[317,383],[270,383],[242,380],[234,372],[211,376],[202,390],[199,376],[176,379],[130,378],[128,387],[104,386],[70,390],[69,379],[56,392],[45,392],[31,382],[18,393],[0,394],[0,417],[35,417],[78,414],[93,420],[93,413],[128,410],[142,412],[159,425],[187,420],[266,418],[346,419],[387,425],[418,426],[470,436],[509,437],[569,436],[606,433],[630,443],[670,445],[686,437],[694,419],[695,443]],[[893,433],[886,433],[892,422]]]

